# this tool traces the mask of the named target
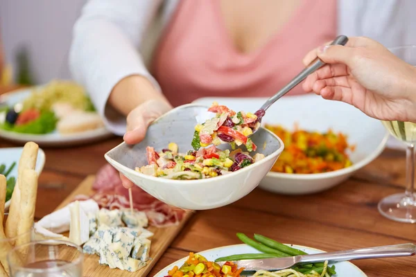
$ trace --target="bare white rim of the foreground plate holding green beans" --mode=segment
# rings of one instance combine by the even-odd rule
[[[306,253],[314,254],[314,253],[322,253],[324,251],[319,249],[314,249],[310,247],[302,247],[299,245],[293,245],[294,248],[300,249]],[[247,244],[235,244],[229,245],[227,247],[218,247],[214,249],[209,249],[207,251],[199,252],[202,256],[207,258],[207,260],[214,261],[216,258],[236,255],[236,254],[244,254],[244,253],[260,253],[256,249],[249,247]],[[161,271],[159,271],[155,277],[164,277],[168,276],[168,271],[171,270],[175,265],[177,267],[181,267],[184,262],[188,259],[188,257],[182,258],[181,260],[177,260],[173,262],[171,265],[168,265]],[[365,277],[365,273],[361,271],[358,267],[353,265],[351,262],[337,262],[335,265],[336,275],[333,277]]]

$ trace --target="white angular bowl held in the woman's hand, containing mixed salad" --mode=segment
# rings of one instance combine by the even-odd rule
[[[266,143],[266,148],[257,148],[257,152],[265,154],[266,158],[227,175],[200,180],[170,180],[144,175],[134,170],[147,164],[148,145],[153,146],[155,150],[161,150],[166,148],[168,143],[175,142],[180,152],[191,150],[194,127],[197,123],[205,121],[204,117],[197,117],[196,114],[200,114],[201,109],[207,111],[207,107],[187,106],[189,113],[193,114],[192,120],[189,120],[189,117],[173,116],[173,109],[150,125],[144,141],[137,145],[121,143],[107,152],[105,159],[153,197],[180,208],[218,208],[248,195],[266,176],[284,148],[282,141],[275,134],[263,128],[259,129],[252,139],[261,141],[259,145]],[[209,113],[209,116],[212,117],[213,114]],[[171,118],[175,120],[171,121]],[[225,145],[222,146],[221,148],[226,148]]]

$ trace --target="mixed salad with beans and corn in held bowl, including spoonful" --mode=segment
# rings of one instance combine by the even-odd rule
[[[207,179],[240,170],[264,158],[260,153],[250,156],[250,152],[257,149],[248,137],[260,124],[256,114],[236,113],[216,102],[209,111],[216,115],[196,125],[191,143],[193,150],[179,152],[176,143],[169,143],[168,148],[159,151],[148,146],[148,164],[135,170],[166,179]],[[223,143],[231,144],[232,151],[216,147]],[[245,145],[248,152],[236,149],[236,145]]]

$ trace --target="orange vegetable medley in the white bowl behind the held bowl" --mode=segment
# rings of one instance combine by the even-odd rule
[[[352,165],[348,150],[354,146],[347,143],[345,134],[307,132],[295,128],[289,132],[281,126],[266,125],[284,142],[280,154],[271,171],[297,174],[311,174],[340,170]]]

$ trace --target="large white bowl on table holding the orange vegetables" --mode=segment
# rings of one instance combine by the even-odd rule
[[[217,101],[234,110],[256,111],[267,98],[201,98],[195,102],[211,105]],[[324,100],[320,96],[286,96],[272,105],[262,123],[282,125],[293,129],[295,123],[306,130],[342,132],[348,142],[356,145],[350,158],[353,166],[318,174],[287,174],[269,172],[259,185],[265,190],[287,195],[317,193],[327,190],[351,177],[383,152],[388,141],[388,132],[374,118],[343,102]],[[254,141],[254,140],[253,140]],[[256,143],[256,141],[254,141]]]

